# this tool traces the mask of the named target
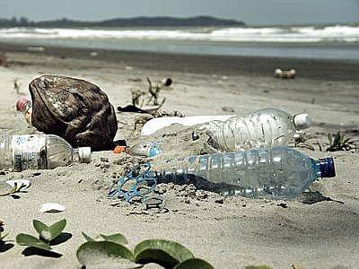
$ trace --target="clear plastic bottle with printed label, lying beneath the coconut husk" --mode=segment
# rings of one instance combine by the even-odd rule
[[[55,169],[74,161],[91,161],[91,148],[73,149],[53,134],[9,135],[0,131],[0,169]]]

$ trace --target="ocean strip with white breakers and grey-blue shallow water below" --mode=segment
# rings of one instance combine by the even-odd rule
[[[176,54],[359,60],[359,26],[0,29],[0,42]]]

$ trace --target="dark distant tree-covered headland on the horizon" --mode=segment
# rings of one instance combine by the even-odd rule
[[[44,28],[70,28],[70,27],[213,27],[213,26],[243,26],[244,22],[235,20],[217,19],[208,16],[192,18],[175,17],[136,17],[118,18],[101,22],[82,22],[66,18],[54,21],[32,22],[25,17],[0,19],[0,27],[44,27]]]

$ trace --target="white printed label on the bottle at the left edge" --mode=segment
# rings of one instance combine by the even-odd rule
[[[12,149],[14,171],[47,168],[45,135],[13,135]]]

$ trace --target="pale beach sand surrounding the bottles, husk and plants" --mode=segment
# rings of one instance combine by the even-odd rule
[[[161,189],[167,213],[146,212],[141,206],[106,198],[114,177],[139,161],[127,154],[94,152],[90,164],[5,173],[0,180],[31,180],[31,187],[16,199],[0,197],[0,219],[10,232],[8,240],[20,232],[35,235],[33,219],[50,224],[63,218],[68,223],[65,231],[72,238],[54,247],[63,255],[59,258],[24,256],[25,247],[10,241],[15,246],[0,252],[0,267],[78,268],[75,251],[84,242],[82,231],[91,236],[121,232],[130,247],[144,239],[175,240],[215,268],[355,268],[359,264],[359,152],[325,152],[329,133],[340,130],[358,140],[359,63],[104,50],[90,56],[91,50],[86,49],[28,52],[25,47],[9,45],[1,45],[0,51],[5,51],[9,63],[0,66],[0,128],[22,134],[35,132],[15,111],[16,78],[21,82],[20,91],[26,94],[29,82],[41,74],[82,78],[99,85],[115,107],[123,107],[131,101],[132,88],[146,89],[145,77],[171,77],[171,89],[162,91],[164,109],[186,116],[242,114],[267,107],[292,114],[309,113],[314,126],[307,131],[311,139],[306,143],[315,151],[298,150],[313,159],[333,156],[337,168],[336,178],[320,179],[295,201],[222,199],[212,193],[204,198],[198,191],[196,196],[191,187],[164,185]],[[298,77],[275,79],[276,67],[294,67]],[[141,115],[117,116],[116,139],[136,143],[139,130],[134,126]],[[171,127],[164,131],[171,146],[157,158],[203,151],[201,141],[192,147],[182,141],[187,131],[178,130]],[[101,157],[109,158],[109,162],[101,161]],[[39,213],[40,205],[49,202],[65,205],[66,211]],[[115,202],[119,202],[117,206]],[[278,205],[282,203],[287,207]]]

